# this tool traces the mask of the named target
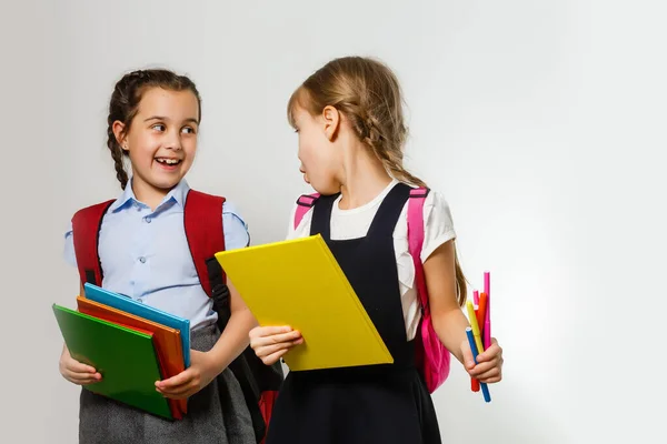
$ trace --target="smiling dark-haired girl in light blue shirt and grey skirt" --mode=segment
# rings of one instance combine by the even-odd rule
[[[255,319],[229,284],[231,317],[222,333],[218,330],[212,300],[200,284],[183,229],[190,191],[185,175],[195,160],[200,123],[195,83],[171,71],[128,73],[111,94],[108,147],[122,192],[100,224],[102,286],[190,320],[190,367],[156,381],[162,395],[187,398],[188,413],[171,422],[82,390],[81,443],[256,443],[243,394],[228,369],[247,347]],[[128,159],[131,174],[125,169]],[[233,205],[225,201],[219,216],[226,248],[246,246],[247,226]],[[68,231],[64,248],[74,266],[76,238]],[[96,369],[72,359],[67,346],[60,372],[78,385],[102,379]]]

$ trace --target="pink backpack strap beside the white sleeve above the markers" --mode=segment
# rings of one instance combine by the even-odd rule
[[[415,283],[422,311],[428,310],[428,292],[424,264],[421,263],[421,248],[424,246],[424,202],[430,190],[427,188],[412,189],[408,200],[408,244],[415,263]]]

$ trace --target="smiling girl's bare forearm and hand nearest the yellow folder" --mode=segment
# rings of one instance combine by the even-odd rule
[[[257,325],[257,321],[231,282],[227,284],[231,316],[225,331],[208,352],[191,351],[189,369],[173,377],[156,382],[156,389],[165,396],[175,400],[192,396],[227,369],[248,346],[248,334]]]

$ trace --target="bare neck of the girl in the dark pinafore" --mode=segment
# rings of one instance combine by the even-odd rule
[[[372,201],[391,183],[391,176],[370,150],[360,145],[344,155],[344,179],[338,208],[351,210]]]

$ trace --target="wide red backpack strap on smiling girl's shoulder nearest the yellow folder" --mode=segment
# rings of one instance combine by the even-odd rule
[[[225,250],[222,204],[225,198],[190,190],[183,209],[183,224],[190,254],[206,294],[225,286],[225,274],[216,253]]]

